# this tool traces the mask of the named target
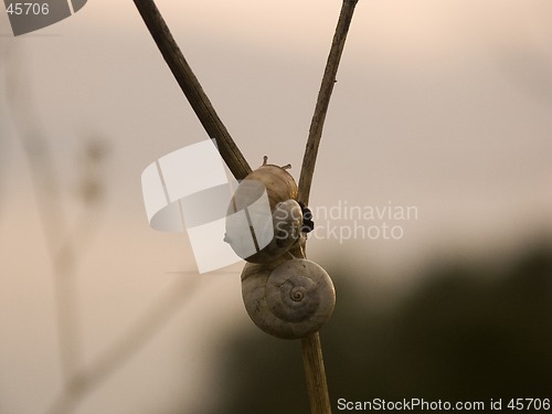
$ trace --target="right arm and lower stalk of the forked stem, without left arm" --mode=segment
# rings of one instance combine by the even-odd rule
[[[343,0],[341,13],[339,15],[336,34],[331,43],[330,54],[326,63],[320,92],[316,103],[315,114],[310,124],[309,137],[305,156],[302,158],[301,173],[299,178],[298,199],[305,204],[309,202],[310,185],[315,174],[316,157],[318,146],[322,137],[323,123],[330,104],[331,93],[336,84],[339,62],[343,52],[347,33],[351,24],[354,7],[358,0]],[[302,241],[302,244],[305,241]],[[305,255],[305,246],[301,248]],[[311,414],[330,414],[331,404],[326,381],[326,369],[323,367],[322,346],[318,332],[308,335],[301,339],[302,363],[305,365],[305,375],[307,379],[307,390],[309,393]]]

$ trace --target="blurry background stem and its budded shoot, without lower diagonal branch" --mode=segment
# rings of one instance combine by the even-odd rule
[[[106,180],[102,177],[109,153],[102,138],[84,140],[77,159],[76,201],[81,206],[74,223],[65,209],[67,190],[61,184],[49,132],[34,112],[32,91],[26,81],[22,56],[10,56],[4,71],[10,118],[14,136],[21,142],[33,180],[36,208],[42,222],[45,247],[50,255],[60,343],[60,365],[64,389],[52,413],[68,412],[84,390],[81,300],[76,285],[77,266],[95,234]]]

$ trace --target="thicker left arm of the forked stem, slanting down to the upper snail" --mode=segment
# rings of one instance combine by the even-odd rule
[[[210,138],[216,140],[219,152],[237,180],[251,172],[251,167],[216,115],[209,97],[185,61],[153,0],[134,0],[159,51],[177,78],[180,88]]]

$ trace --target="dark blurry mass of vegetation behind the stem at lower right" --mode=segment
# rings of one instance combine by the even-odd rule
[[[386,305],[370,268],[328,265],[338,301],[321,336],[333,410],[338,399],[551,397],[552,243],[505,254],[502,263],[435,263],[413,291]],[[352,274],[367,284],[352,286]],[[214,412],[308,412],[294,343],[251,332],[221,349],[226,390]]]

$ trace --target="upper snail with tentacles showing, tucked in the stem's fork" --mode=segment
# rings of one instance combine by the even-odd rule
[[[297,184],[286,170],[290,166],[267,164],[251,172],[237,187],[226,214],[224,240],[243,259],[267,263],[300,238],[304,209],[297,201]]]

